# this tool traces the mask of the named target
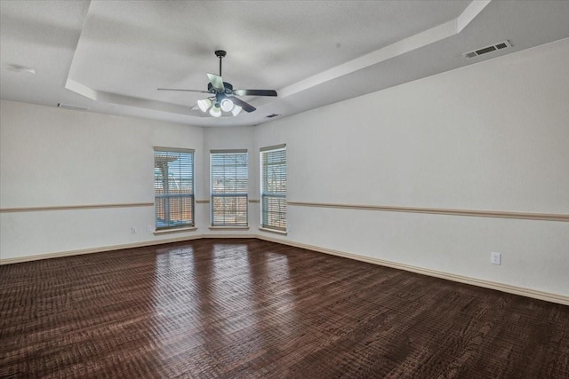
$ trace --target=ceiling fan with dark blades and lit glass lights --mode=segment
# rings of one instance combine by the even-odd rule
[[[236,98],[236,96],[276,96],[276,91],[274,90],[234,90],[231,83],[223,82],[221,78],[221,59],[227,55],[227,52],[216,50],[215,55],[220,59],[220,75],[207,73],[207,78],[210,81],[210,83],[207,84],[207,91],[178,88],[158,88],[158,91],[209,93],[211,96],[207,99],[197,100],[197,106],[202,112],[209,110],[213,117],[220,117],[221,111],[230,112],[236,116],[242,109],[245,112],[253,112],[256,109],[242,99]]]

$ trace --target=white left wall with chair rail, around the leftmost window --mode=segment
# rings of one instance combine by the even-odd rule
[[[202,128],[11,101],[0,116],[2,209],[153,203],[154,146],[196,149],[196,177],[204,176]],[[203,191],[196,186],[197,199]],[[0,257],[172,238],[147,233],[154,217],[153,206],[3,212]]]

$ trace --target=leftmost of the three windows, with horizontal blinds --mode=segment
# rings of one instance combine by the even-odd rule
[[[194,226],[194,150],[154,148],[156,230]]]

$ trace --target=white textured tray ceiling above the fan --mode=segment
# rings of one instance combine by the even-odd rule
[[[569,1],[0,1],[1,99],[256,125],[569,37]],[[475,59],[462,53],[509,40]],[[190,109],[217,73],[257,111]],[[568,62],[569,64],[569,62]],[[11,65],[33,67],[36,75]]]

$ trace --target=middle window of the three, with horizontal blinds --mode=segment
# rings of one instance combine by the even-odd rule
[[[212,150],[212,226],[247,226],[247,150]]]

